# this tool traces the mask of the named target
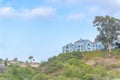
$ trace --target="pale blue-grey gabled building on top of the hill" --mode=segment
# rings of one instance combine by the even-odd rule
[[[90,40],[78,40],[74,43],[67,44],[63,46],[62,52],[73,52],[73,51],[79,51],[79,52],[85,52],[85,51],[94,51],[94,50],[102,50],[104,49],[104,46],[101,42],[91,42]]]

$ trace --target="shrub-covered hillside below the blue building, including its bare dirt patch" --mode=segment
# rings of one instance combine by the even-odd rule
[[[61,53],[40,65],[41,73],[60,80],[109,80],[120,78],[120,49]],[[99,77],[100,79],[97,79]],[[68,79],[70,78],[70,79]],[[92,79],[95,78],[95,79]],[[119,79],[120,80],[120,79]]]

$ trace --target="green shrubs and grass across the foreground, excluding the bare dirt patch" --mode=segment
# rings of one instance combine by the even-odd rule
[[[95,66],[85,64],[86,59],[105,57],[108,54],[120,58],[120,49],[92,52],[61,53],[42,61],[38,68],[19,67],[16,65],[6,66],[6,73],[0,74],[0,80],[120,80],[120,72],[115,67]]]

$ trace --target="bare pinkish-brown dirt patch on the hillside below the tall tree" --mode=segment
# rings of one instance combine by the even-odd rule
[[[120,72],[120,60],[117,59],[117,56],[112,54],[108,54],[105,57],[87,60],[85,63],[92,66],[102,65],[107,69],[116,69]]]

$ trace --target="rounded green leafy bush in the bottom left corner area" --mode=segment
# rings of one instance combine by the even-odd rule
[[[14,65],[9,67],[9,70],[7,72],[7,78],[9,80],[30,80],[35,75],[35,73],[36,71],[29,67],[21,68]]]

